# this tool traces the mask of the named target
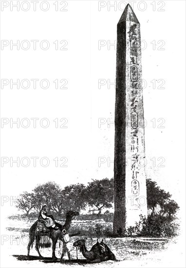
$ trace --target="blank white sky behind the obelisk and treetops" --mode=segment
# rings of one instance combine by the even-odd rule
[[[21,47],[10,50],[10,45],[1,50],[1,79],[50,81],[48,89],[40,86],[33,89],[31,81],[29,89],[16,86],[10,89],[7,85],[1,90],[1,117],[8,120],[29,118],[31,122],[28,128],[15,125],[10,128],[10,123],[1,128],[1,157],[31,160],[29,167],[16,164],[10,167],[10,161],[4,164],[1,168],[3,196],[31,191],[37,183],[49,180],[64,187],[113,176],[113,163],[109,167],[108,157],[113,161],[114,125],[109,128],[105,123],[99,128],[98,118],[105,118],[107,122],[109,118],[113,122],[115,90],[113,85],[110,89],[107,85],[99,89],[98,79],[111,82],[115,79],[116,50],[114,46],[108,49],[108,40],[112,44],[116,39],[116,25],[124,1],[117,1],[116,10],[111,8],[110,11],[108,4],[114,1],[102,1],[106,6],[99,11],[100,1],[70,0],[65,12],[55,11],[56,1],[48,2],[50,8],[46,12],[39,6],[34,12],[32,5],[27,12],[14,8],[11,11],[10,6],[1,12],[1,39],[28,40],[31,45],[28,50]],[[164,7],[157,2],[154,7],[152,1],[146,1],[144,11],[143,3],[139,2],[133,1],[133,9],[141,24],[143,45],[147,45],[142,50],[143,78],[147,81],[144,89],[147,176],[170,191],[182,206],[185,203],[185,1],[176,1],[176,4],[164,1]],[[158,11],[158,8],[165,11]],[[36,50],[31,40],[39,40]],[[50,43],[48,50],[40,49],[42,40]],[[56,40],[67,40],[68,50],[55,50],[53,42]],[[107,45],[99,50],[98,40],[105,40]],[[162,44],[165,50],[158,50]],[[55,89],[53,81],[56,79],[67,79],[68,89]],[[161,83],[156,83],[153,89],[150,82],[153,79],[164,79],[165,89],[157,89]],[[36,128],[31,118],[39,118]],[[42,118],[50,121],[48,128],[40,127]],[[55,118],[67,118],[68,128],[55,128]],[[153,118],[155,128],[150,121]],[[165,128],[157,127],[162,122],[158,122],[159,118],[165,120]],[[50,164],[44,168],[38,161],[34,167],[31,157],[39,157],[39,160],[47,157]],[[68,158],[68,167],[55,167],[53,159],[56,157]],[[99,167],[98,157],[105,157],[107,162]],[[155,167],[150,160],[153,157]],[[165,167],[158,167],[159,157],[165,158]],[[5,213],[15,209],[6,202],[1,210]]]

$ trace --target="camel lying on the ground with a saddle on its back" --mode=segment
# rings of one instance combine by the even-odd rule
[[[111,249],[103,243],[103,239],[101,243],[98,242],[93,247],[91,250],[87,250],[85,247],[85,240],[77,240],[73,244],[74,247],[78,247],[79,251],[83,254],[83,256],[89,260],[89,263],[100,263],[104,261],[116,261],[116,258],[114,254],[112,253]]]

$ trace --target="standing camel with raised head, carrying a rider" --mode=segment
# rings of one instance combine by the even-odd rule
[[[61,260],[62,260],[64,254],[65,254],[65,251],[67,251],[68,258],[70,260],[70,252],[66,247],[66,244],[64,242],[63,236],[66,233],[66,231],[69,230],[72,220],[77,215],[79,215],[79,212],[77,212],[77,211],[66,211],[65,224],[62,226],[62,225],[57,223],[56,225],[59,227],[59,229],[58,230],[50,230],[49,237],[52,240],[52,259],[53,260],[57,259],[56,255],[55,255],[55,249],[56,249],[57,240],[60,240],[63,243],[63,249],[62,249],[62,253],[61,253]],[[38,222],[38,220],[31,226],[31,228],[29,230],[29,243],[28,243],[28,246],[27,246],[27,256],[28,256],[28,258],[29,258],[29,254],[30,254],[30,247],[31,247],[31,245],[33,244],[33,242],[35,240],[37,222]],[[37,253],[39,254],[39,257],[42,258],[41,254],[39,252],[39,249],[38,249],[37,240],[36,240],[35,249],[36,249]]]

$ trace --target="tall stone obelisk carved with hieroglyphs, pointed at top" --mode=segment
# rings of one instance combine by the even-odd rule
[[[117,24],[114,233],[147,217],[140,23],[128,4]]]

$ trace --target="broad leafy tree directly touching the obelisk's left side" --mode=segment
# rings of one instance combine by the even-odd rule
[[[86,203],[90,206],[95,206],[101,214],[103,208],[112,208],[114,200],[114,180],[102,179],[92,180],[83,191]]]

